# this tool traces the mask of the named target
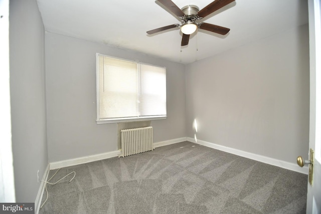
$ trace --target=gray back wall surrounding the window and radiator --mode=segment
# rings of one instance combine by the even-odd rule
[[[117,150],[117,124],[96,124],[95,53],[167,68],[166,120],[155,120],[154,142],[186,137],[185,66],[46,32],[49,162]]]

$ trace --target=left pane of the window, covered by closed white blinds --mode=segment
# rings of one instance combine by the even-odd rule
[[[135,117],[137,102],[137,64],[100,56],[100,117]]]

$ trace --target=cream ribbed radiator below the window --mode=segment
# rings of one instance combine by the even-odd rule
[[[128,156],[154,149],[152,141],[152,127],[124,129],[121,133],[121,154]]]

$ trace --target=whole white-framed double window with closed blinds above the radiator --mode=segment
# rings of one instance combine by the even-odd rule
[[[96,54],[97,123],[165,119],[166,68]]]

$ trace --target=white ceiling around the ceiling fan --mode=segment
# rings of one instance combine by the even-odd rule
[[[179,8],[200,9],[212,0],[172,0]],[[260,40],[308,22],[305,0],[236,0],[202,22],[230,28],[221,36],[199,30],[181,47],[179,28],[154,35],[146,31],[180,24],[152,0],[37,0],[46,31],[94,41],[184,64]]]

